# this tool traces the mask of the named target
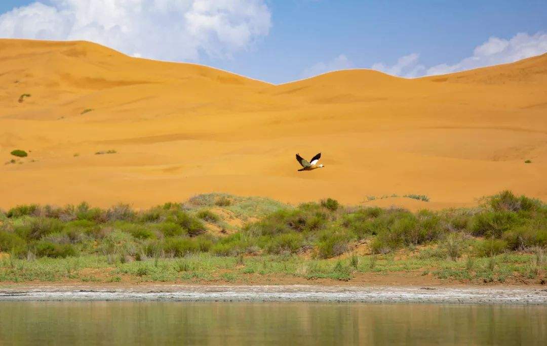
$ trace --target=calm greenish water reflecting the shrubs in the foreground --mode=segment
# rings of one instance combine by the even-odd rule
[[[547,306],[0,302],[1,345],[545,345]]]

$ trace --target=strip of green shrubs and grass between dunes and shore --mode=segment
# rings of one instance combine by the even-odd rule
[[[0,281],[251,282],[406,273],[543,284],[547,206],[509,191],[473,209],[288,206],[200,195],[143,211],[18,206],[0,213]]]

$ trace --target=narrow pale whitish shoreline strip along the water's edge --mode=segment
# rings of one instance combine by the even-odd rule
[[[359,302],[547,305],[547,289],[472,286],[10,285],[0,302]]]

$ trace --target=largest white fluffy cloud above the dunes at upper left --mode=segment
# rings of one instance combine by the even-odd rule
[[[266,36],[264,0],[50,0],[0,15],[0,37],[89,40],[132,56],[230,57]]]

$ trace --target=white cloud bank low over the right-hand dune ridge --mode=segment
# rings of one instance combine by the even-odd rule
[[[416,53],[399,58],[397,63],[387,66],[375,63],[371,68],[401,77],[420,77],[423,75],[445,74],[501,63],[509,63],[547,52],[547,34],[533,35],[517,33],[510,39],[491,37],[473,50],[473,55],[455,64],[441,63],[429,68],[419,63]]]

